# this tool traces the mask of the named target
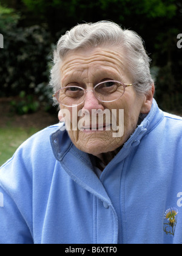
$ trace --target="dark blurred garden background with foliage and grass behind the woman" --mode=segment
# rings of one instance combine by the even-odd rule
[[[181,0],[1,0],[0,166],[30,135],[58,123],[49,87],[53,49],[66,30],[99,20],[141,35],[158,105],[182,115]]]

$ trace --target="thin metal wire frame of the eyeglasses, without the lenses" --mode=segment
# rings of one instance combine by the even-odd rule
[[[78,106],[78,105],[83,104],[83,102],[84,102],[85,99],[86,99],[86,93],[88,93],[88,92],[93,92],[93,94],[95,95],[96,99],[98,99],[98,101],[106,102],[106,103],[113,102],[113,101],[117,101],[118,99],[120,99],[120,98],[123,96],[124,92],[123,92],[123,94],[122,94],[118,99],[113,99],[112,101],[103,101],[103,100],[99,99],[98,96],[97,96],[96,93],[95,93],[95,88],[96,88],[98,85],[103,84],[104,82],[116,82],[116,83],[118,83],[118,84],[121,84],[121,85],[123,86],[123,88],[124,88],[124,92],[125,92],[126,87],[130,87],[130,86],[133,85],[133,84],[124,84],[123,82],[119,82],[119,81],[117,81],[117,80],[106,80],[106,81],[103,81],[103,82],[99,82],[99,83],[96,84],[96,85],[93,87],[93,89],[91,89],[91,90],[86,90],[85,88],[79,87],[79,86],[77,86],[77,85],[70,85],[70,86],[68,85],[67,87],[62,87],[62,88],[60,88],[58,91],[56,91],[55,94],[52,95],[52,97],[53,97],[53,98],[56,98],[56,100],[58,101],[58,98],[56,97],[56,94],[58,94],[58,92],[61,91],[62,89],[64,89],[64,88],[72,88],[72,87],[79,88],[79,89],[81,89],[81,90],[84,91],[84,95],[85,95],[84,100],[83,100],[81,103],[79,103],[79,104],[74,104],[74,105],[70,106],[70,105],[62,104],[61,102],[58,101],[59,104],[64,105],[65,107],[73,107],[73,106],[75,107],[75,106]]]

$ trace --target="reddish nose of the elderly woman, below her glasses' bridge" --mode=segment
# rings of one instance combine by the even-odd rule
[[[96,98],[93,90],[87,90],[83,110],[89,110],[89,112],[92,113],[92,109],[104,110],[104,107],[101,102]]]

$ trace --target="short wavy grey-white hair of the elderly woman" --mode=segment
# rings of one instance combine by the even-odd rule
[[[110,21],[78,24],[59,39],[53,54],[50,85],[54,93],[61,88],[60,66],[69,51],[104,45],[124,49],[126,65],[138,95],[147,94],[153,84],[150,75],[150,58],[144,49],[142,38],[132,30],[122,29]]]

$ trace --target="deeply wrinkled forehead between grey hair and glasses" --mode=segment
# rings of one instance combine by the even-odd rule
[[[105,47],[77,49],[70,51],[61,63],[61,79],[82,74],[83,71],[124,73],[126,62],[124,52],[119,48]]]

